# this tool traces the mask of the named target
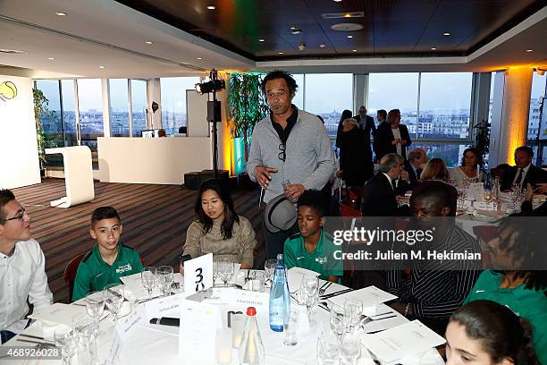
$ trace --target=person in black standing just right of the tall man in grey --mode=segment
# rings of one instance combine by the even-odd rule
[[[363,186],[374,174],[372,152],[366,132],[353,118],[343,122],[340,136],[340,168],[347,186]]]

